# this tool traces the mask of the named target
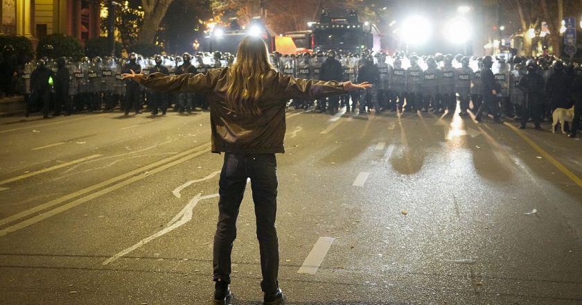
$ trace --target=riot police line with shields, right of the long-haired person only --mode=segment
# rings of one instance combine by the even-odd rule
[[[366,92],[344,94],[339,100],[316,101],[319,112],[334,114],[340,107],[346,112],[358,108],[360,114],[376,112],[433,112],[459,115],[484,115],[493,121],[512,119],[525,128],[532,121],[541,129],[541,121],[551,121],[557,108],[572,110],[582,102],[582,69],[575,62],[551,56],[538,58],[468,57],[462,54],[418,56],[397,51],[394,55],[368,50],[362,53],[274,53],[272,62],[283,73],[297,78],[319,80],[367,81],[373,87]],[[338,69],[337,67],[341,67]],[[292,101],[293,107],[308,109],[312,101]],[[580,119],[582,105],[574,117]],[[572,121],[573,118],[570,118]],[[575,137],[575,127],[570,128]],[[557,128],[557,126],[556,126]]]

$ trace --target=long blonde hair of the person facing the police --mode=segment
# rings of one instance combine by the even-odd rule
[[[261,114],[258,99],[263,94],[263,76],[272,69],[265,42],[256,36],[243,38],[227,79],[226,101],[234,114]]]

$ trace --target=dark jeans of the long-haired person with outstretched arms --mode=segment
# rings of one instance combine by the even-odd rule
[[[261,289],[273,293],[279,287],[279,241],[275,229],[277,210],[277,162],[274,154],[225,153],[218,182],[218,225],[214,235],[214,281],[230,284],[231,253],[236,238],[236,218],[243,201],[247,178],[256,216],[256,237],[261,252]]]

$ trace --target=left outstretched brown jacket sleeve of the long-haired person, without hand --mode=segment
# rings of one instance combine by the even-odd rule
[[[220,71],[222,69],[215,69],[206,73],[186,73],[175,76],[166,76],[157,72],[144,76],[139,83],[164,93],[192,92],[209,94],[218,80]]]

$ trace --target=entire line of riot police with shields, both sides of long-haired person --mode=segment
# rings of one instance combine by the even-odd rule
[[[151,92],[131,80],[122,80],[121,74],[130,70],[168,75],[204,73],[209,69],[227,67],[234,59],[233,54],[218,51],[199,52],[194,56],[189,53],[182,56],[155,55],[152,58],[130,53],[127,60],[85,57],[78,62],[67,58],[42,58],[28,62],[21,73],[29,105],[26,114],[39,104],[45,117],[49,105],[54,105],[55,115],[61,112],[112,111],[118,106],[125,115],[130,111],[139,114],[144,105],[152,114],[166,114],[170,107],[180,113],[206,110],[208,104],[200,94]],[[458,100],[461,116],[467,116],[470,111],[477,121],[486,114],[493,116],[496,122],[500,118],[520,121],[522,127],[525,122],[533,121],[536,128],[540,128],[540,121],[549,121],[556,108],[570,109],[576,100],[572,96],[576,95],[576,88],[571,85],[582,72],[574,62],[564,63],[548,56],[515,56],[506,60],[441,53],[418,56],[401,51],[388,55],[364,49],[362,53],[330,50],[326,53],[281,55],[274,52],[271,60],[275,69],[296,78],[367,81],[374,85],[366,92],[325,100],[290,101],[290,107],[296,109],[314,108],[330,114],[337,113],[342,107],[347,112],[358,109],[360,114],[372,109],[376,112],[452,114]],[[35,73],[35,70],[42,73]],[[534,73],[541,78],[531,77]],[[524,77],[527,75],[530,76]],[[48,86],[44,85],[45,81]],[[484,88],[484,84],[491,88]]]

